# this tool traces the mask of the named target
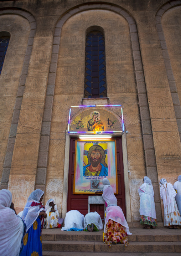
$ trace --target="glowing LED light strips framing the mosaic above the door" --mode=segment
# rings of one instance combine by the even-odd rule
[[[76,108],[76,107],[121,107],[120,104],[117,105],[81,105],[81,106],[71,106],[71,108]],[[69,111],[69,118],[68,118],[68,133],[95,133],[96,132],[69,132],[69,126],[70,126],[70,117],[71,117],[71,108]],[[123,121],[123,108],[121,107],[121,116],[122,116],[122,126],[123,126],[123,131],[103,131],[101,133],[118,133],[118,132],[124,132],[124,121]]]

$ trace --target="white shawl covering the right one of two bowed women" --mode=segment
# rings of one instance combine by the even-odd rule
[[[94,211],[94,213],[88,213],[86,214],[84,218],[84,229],[86,229],[87,225],[95,224],[95,226],[99,229],[103,229],[103,222],[100,218],[100,215],[97,213],[97,211]]]

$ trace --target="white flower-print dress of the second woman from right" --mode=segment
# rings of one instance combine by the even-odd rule
[[[169,214],[164,214],[164,226],[180,225],[181,226],[181,217],[180,213],[174,198],[175,211]]]

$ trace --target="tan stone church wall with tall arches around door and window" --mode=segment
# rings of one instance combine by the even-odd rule
[[[161,221],[158,179],[173,184],[180,174],[181,1],[101,2],[0,1],[0,31],[12,33],[0,76],[1,189],[9,182],[18,211],[43,189],[61,213],[69,107],[82,102],[86,30],[97,25],[109,103],[124,106],[131,219],[139,221],[137,191],[147,174]]]

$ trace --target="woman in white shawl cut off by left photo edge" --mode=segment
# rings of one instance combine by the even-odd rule
[[[16,215],[11,192],[0,190],[0,255],[19,256],[25,232],[26,225]]]

